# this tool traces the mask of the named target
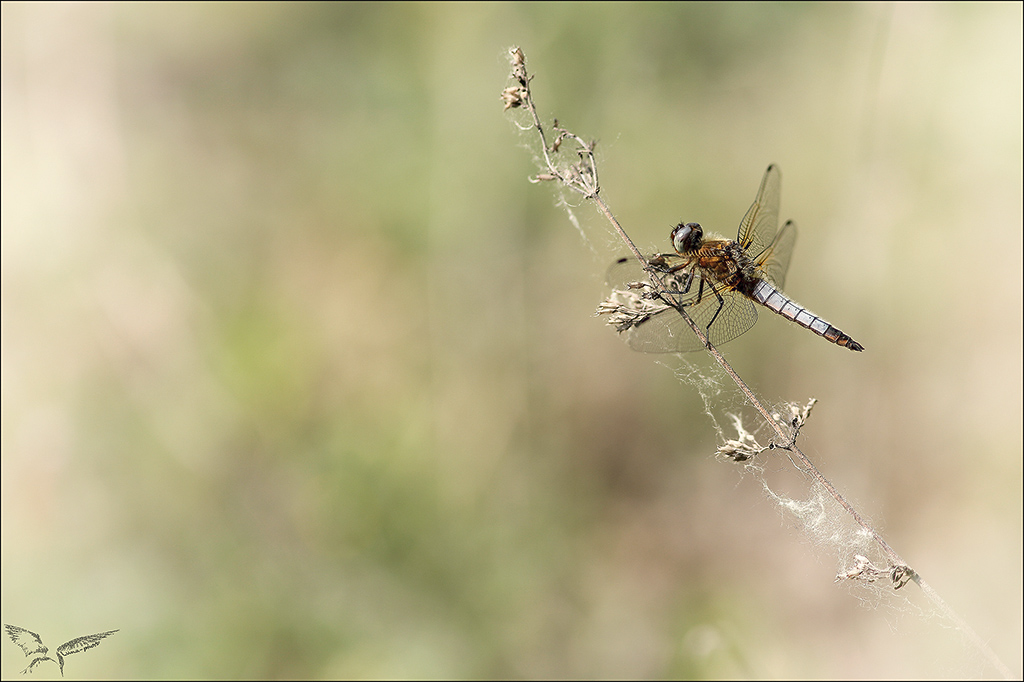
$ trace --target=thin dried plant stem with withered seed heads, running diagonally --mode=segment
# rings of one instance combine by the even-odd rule
[[[505,101],[505,109],[508,110],[521,106],[529,112],[532,119],[532,127],[537,130],[540,137],[541,147],[544,155],[546,172],[539,174],[532,181],[540,182],[557,180],[562,186],[580,194],[584,197],[584,199],[593,201],[600,209],[601,213],[604,214],[604,217],[607,218],[615,232],[618,233],[618,237],[633,253],[637,261],[643,264],[643,267],[650,276],[655,289],[660,292],[667,292],[668,289],[665,286],[665,282],[663,281],[660,273],[648,264],[647,259],[644,258],[643,254],[633,243],[633,240],[630,239],[629,235],[620,224],[618,220],[615,219],[615,216],[611,212],[607,203],[600,196],[600,184],[597,177],[597,164],[594,160],[594,142],[587,142],[575,133],[560,127],[556,119],[552,125],[552,130],[557,133],[557,136],[553,142],[550,144],[548,143],[548,135],[545,132],[545,128],[540,117],[538,116],[532,92],[530,91],[529,83],[530,80],[532,80],[532,77],[526,73],[526,57],[522,50],[518,47],[513,47],[509,53],[511,55],[512,78],[515,80],[516,85],[506,88],[502,93],[502,99]],[[579,157],[579,161],[574,164],[559,165],[555,163],[553,159],[553,155],[558,153],[564,140],[569,140],[570,143],[575,146],[575,153]],[[797,436],[799,435],[800,427],[806,420],[807,415],[813,406],[813,401],[804,410],[802,416],[794,417],[794,419],[786,424],[787,427],[792,427],[792,432],[787,433],[786,429],[783,428],[783,422],[773,417],[761,399],[758,398],[754,391],[751,390],[750,386],[746,385],[746,382],[744,382],[732,369],[728,360],[725,359],[725,356],[719,352],[718,348],[712,345],[712,343],[708,340],[705,330],[693,322],[690,315],[686,312],[686,309],[683,307],[677,307],[676,309],[679,314],[682,315],[683,319],[686,321],[686,324],[690,327],[693,333],[697,335],[697,338],[700,339],[701,343],[703,343],[705,348],[707,348],[711,356],[715,358],[715,361],[719,364],[719,366],[725,371],[726,374],[729,375],[736,386],[739,387],[739,390],[742,391],[748,401],[761,415],[765,423],[771,426],[775,435],[778,437],[778,441],[771,443],[767,450],[781,449],[787,451],[792,458],[795,458],[794,465],[797,466],[797,468],[802,472],[810,476],[814,482],[827,491],[828,495],[831,496],[831,498],[839,503],[839,505],[857,522],[857,524],[871,537],[881,551],[888,558],[889,567],[886,570],[881,570],[874,568],[873,566],[868,569],[867,567],[870,566],[869,562],[867,562],[864,557],[857,557],[858,560],[863,559],[862,565],[855,570],[837,577],[837,580],[861,578],[863,580],[873,581],[877,580],[878,577],[886,576],[892,581],[893,589],[895,590],[900,589],[906,585],[907,582],[912,581],[921,588],[923,593],[932,601],[932,603],[935,604],[936,608],[949,619],[957,629],[959,629],[967,639],[997,671],[999,671],[1005,678],[1014,679],[1013,673],[999,659],[991,647],[989,647],[988,644],[978,636],[974,629],[972,629],[971,626],[959,617],[959,615],[957,615],[956,612],[950,608],[941,597],[939,597],[938,593],[936,593],[935,590],[928,583],[926,583],[924,579],[922,579],[918,571],[911,568],[906,561],[904,561],[903,558],[889,546],[889,544],[882,538],[874,527],[871,526],[871,524],[863,516],[861,516],[849,502],[847,502],[846,498],[844,498],[836,486],[833,485],[831,481],[825,478],[824,474],[822,474],[818,468],[814,466],[814,463],[811,462],[811,460],[808,459],[808,457],[797,446]],[[753,438],[744,442],[730,442],[730,447],[738,445],[739,447],[744,449],[744,453],[742,455],[731,455],[731,457],[737,461],[749,459],[749,457],[756,454],[756,452],[752,452],[751,450],[751,443],[756,445],[756,441],[754,441]],[[758,450],[763,451],[766,449]]]

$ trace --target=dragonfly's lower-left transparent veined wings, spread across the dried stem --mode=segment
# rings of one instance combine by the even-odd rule
[[[716,346],[731,341],[757,322],[757,309],[750,299],[717,284],[719,301],[712,289],[713,281],[701,278],[699,268],[689,291],[682,293],[692,265],[675,272],[670,270],[685,265],[686,258],[659,254],[650,262],[664,273],[666,293],[653,290],[647,272],[636,259],[624,258],[609,269],[612,295],[598,308],[599,313],[609,315],[608,324],[615,327],[634,350],[645,353],[701,350],[703,344],[679,314],[680,307],[686,309]]]

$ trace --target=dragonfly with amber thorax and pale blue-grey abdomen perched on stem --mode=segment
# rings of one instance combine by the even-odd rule
[[[863,350],[848,334],[782,293],[797,226],[790,220],[778,228],[780,183],[778,167],[769,166],[736,241],[705,239],[699,223],[680,222],[670,235],[676,253],[646,258],[646,267],[635,258],[620,258],[609,270],[611,296],[597,313],[608,316],[630,347],[648,353],[705,347],[680,310],[719,346],[754,326],[755,303],[839,346]]]

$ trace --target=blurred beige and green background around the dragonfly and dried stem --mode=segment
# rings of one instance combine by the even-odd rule
[[[624,250],[527,181],[520,45],[643,249],[780,165],[866,351],[724,350],[1019,675],[1021,8],[4,3],[3,622],[120,628],[69,677],[993,673],[592,316]]]

